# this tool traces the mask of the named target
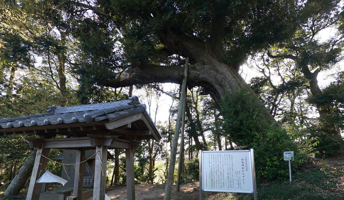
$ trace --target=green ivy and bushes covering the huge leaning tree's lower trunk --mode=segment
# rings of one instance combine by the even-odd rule
[[[249,93],[231,93],[223,99],[224,130],[237,145],[249,145],[255,150],[256,173],[266,179],[286,179],[288,163],[283,161],[283,151],[294,151],[294,167],[303,162],[287,132],[273,124],[266,124],[259,114],[261,108]]]

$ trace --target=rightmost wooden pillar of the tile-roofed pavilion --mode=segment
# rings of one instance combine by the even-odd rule
[[[134,150],[126,149],[127,200],[135,200]]]

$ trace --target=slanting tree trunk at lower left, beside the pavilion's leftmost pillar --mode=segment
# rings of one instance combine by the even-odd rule
[[[33,149],[33,151],[26,158],[24,164],[18,170],[17,175],[13,178],[8,188],[3,193],[3,196],[8,197],[19,194],[20,190],[24,187],[26,180],[28,180],[32,173],[36,153],[37,149]]]

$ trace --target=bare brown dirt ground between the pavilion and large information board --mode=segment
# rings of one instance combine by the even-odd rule
[[[198,190],[199,181],[193,181],[180,185],[180,192],[175,191],[175,185],[172,186],[171,200],[197,200],[200,191]],[[195,189],[194,189],[195,188]],[[115,186],[106,188],[107,196],[111,200],[126,200],[126,186]],[[164,199],[165,185],[162,184],[144,184],[135,185],[136,200],[161,200]],[[92,197],[87,200],[92,200]]]

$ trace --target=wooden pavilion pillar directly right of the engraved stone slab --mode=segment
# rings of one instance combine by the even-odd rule
[[[85,150],[77,150],[75,163],[80,163],[83,161],[85,161]],[[75,196],[77,200],[82,200],[84,167],[85,167],[85,162],[80,163],[80,164],[75,164],[76,170],[75,170],[75,177],[74,177],[73,196]]]

